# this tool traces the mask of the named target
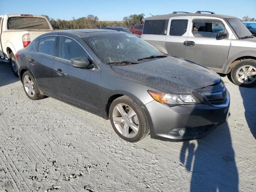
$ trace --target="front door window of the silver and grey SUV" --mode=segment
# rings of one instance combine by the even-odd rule
[[[225,26],[218,20],[193,20],[192,33],[195,37],[216,38],[218,32],[226,32]]]

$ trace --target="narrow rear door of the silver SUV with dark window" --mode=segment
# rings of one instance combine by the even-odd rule
[[[170,55],[185,58],[186,42],[188,38],[188,28],[191,16],[171,17],[168,23],[165,48]]]

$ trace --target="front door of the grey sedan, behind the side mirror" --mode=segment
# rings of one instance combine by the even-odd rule
[[[70,60],[78,57],[92,60],[76,40],[60,36],[58,57],[54,60],[58,98],[93,112],[99,112],[100,70],[73,67]]]

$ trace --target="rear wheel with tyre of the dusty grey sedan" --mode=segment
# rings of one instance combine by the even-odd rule
[[[36,80],[30,74],[30,72],[24,72],[24,74],[22,75],[22,84],[26,95],[31,100],[39,100],[45,97],[40,92],[38,85],[36,84]]]

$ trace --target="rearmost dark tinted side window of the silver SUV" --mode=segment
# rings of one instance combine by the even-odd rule
[[[146,20],[143,34],[166,35],[168,20]]]

